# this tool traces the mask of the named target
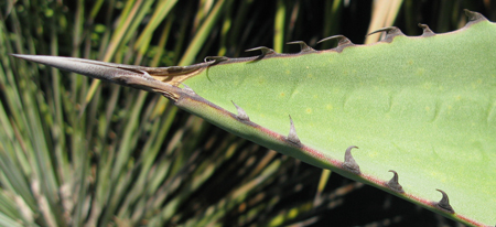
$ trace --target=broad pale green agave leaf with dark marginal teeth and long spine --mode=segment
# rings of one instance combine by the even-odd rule
[[[465,28],[445,34],[423,26],[422,36],[409,37],[387,28],[371,45],[337,36],[333,50],[259,47],[259,56],[208,57],[184,67],[14,56],[163,94],[281,153],[461,223],[492,225],[496,24],[467,14]]]

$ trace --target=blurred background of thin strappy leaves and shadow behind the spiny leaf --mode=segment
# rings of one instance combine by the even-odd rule
[[[395,24],[436,32],[496,2],[358,0],[0,1],[2,226],[456,226],[381,191],[236,138],[159,95],[9,53],[147,66],[244,50],[298,52]]]

